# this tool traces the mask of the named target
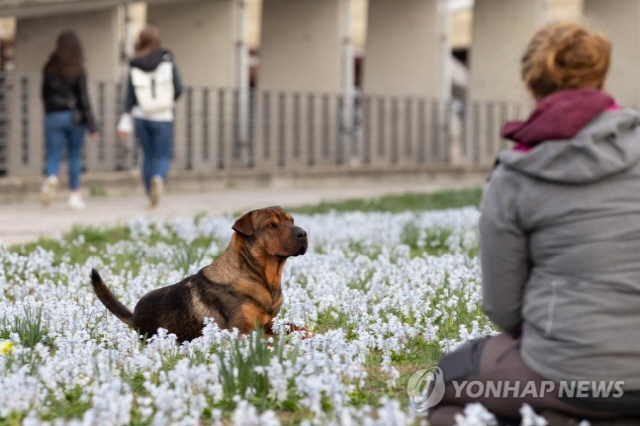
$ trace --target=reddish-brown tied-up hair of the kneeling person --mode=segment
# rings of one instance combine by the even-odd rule
[[[522,56],[522,80],[538,100],[559,90],[602,89],[610,61],[611,42],[603,34],[573,23],[549,24]]]

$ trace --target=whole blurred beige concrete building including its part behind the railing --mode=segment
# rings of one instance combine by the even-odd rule
[[[18,102],[9,109],[32,120],[28,125],[10,121],[10,128],[0,132],[0,162],[4,157],[11,173],[40,170],[36,160],[42,158],[42,147],[32,143],[41,134],[37,78],[55,35],[74,29],[96,82],[92,96],[104,129],[87,164],[103,170],[119,164],[123,148],[114,142],[113,130],[122,104],[119,84],[135,34],[150,22],[160,27],[188,86],[176,129],[186,141],[176,151],[176,162],[187,170],[210,168],[212,158],[221,159],[218,168],[351,164],[350,156],[362,156],[354,164],[403,164],[415,158],[448,162],[450,147],[434,145],[421,152],[421,141],[427,136],[448,140],[458,133],[462,161],[489,164],[502,143],[497,137],[501,122],[528,111],[519,58],[533,32],[547,22],[586,22],[609,35],[614,56],[607,87],[621,104],[640,104],[640,83],[634,77],[640,65],[640,0],[618,0],[616,8],[610,4],[0,0],[0,16],[10,18],[0,29],[14,34],[14,69],[32,77],[12,83],[13,97],[5,101]],[[258,60],[251,92],[250,70]],[[362,91],[359,103],[354,101],[356,81]],[[451,130],[458,117],[451,116],[448,105],[452,87],[466,102],[464,110],[456,110],[465,120],[458,133]],[[8,139],[19,142],[3,154]],[[320,142],[321,147],[314,145]],[[389,145],[399,143],[404,144],[401,150]]]

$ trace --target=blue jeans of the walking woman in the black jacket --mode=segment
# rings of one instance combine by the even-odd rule
[[[71,111],[49,112],[44,117],[44,139],[46,143],[45,170],[47,176],[58,176],[62,154],[67,149],[69,161],[69,189],[80,186],[82,171],[82,147],[87,127],[73,121]]]

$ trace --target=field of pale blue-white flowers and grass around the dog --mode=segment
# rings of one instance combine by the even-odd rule
[[[491,331],[479,308],[475,207],[294,213],[276,324],[316,335],[238,338],[207,322],[143,345],[94,296],[97,269],[133,308],[221,253],[232,216],[131,220],[0,247],[0,425],[426,424],[411,374]]]

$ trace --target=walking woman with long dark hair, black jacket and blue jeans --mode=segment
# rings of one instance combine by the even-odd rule
[[[58,186],[60,162],[66,149],[69,165],[69,206],[83,209],[79,191],[82,148],[87,129],[96,137],[97,127],[87,91],[87,73],[80,39],[73,31],[62,32],[49,56],[42,78],[46,179],[41,200],[48,206]]]

